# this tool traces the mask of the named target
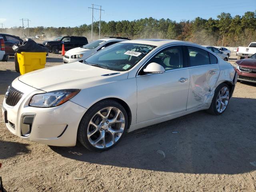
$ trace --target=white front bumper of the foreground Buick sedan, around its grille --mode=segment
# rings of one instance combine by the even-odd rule
[[[86,108],[68,101],[52,108],[28,106],[34,94],[41,90],[32,88],[17,79],[12,86],[24,95],[15,106],[8,106],[6,99],[3,108],[6,110],[6,127],[12,134],[24,140],[52,146],[75,146],[78,125]]]

